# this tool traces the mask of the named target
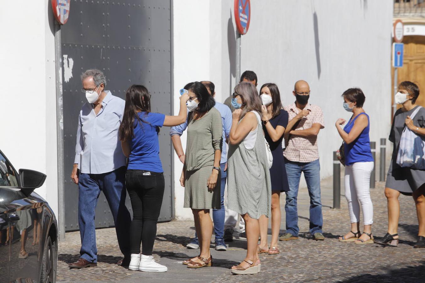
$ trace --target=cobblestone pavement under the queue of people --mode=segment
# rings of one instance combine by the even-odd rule
[[[383,236],[387,227],[386,199],[383,183],[371,189],[374,203],[373,234]],[[376,244],[356,245],[338,242],[337,237],[349,231],[349,217],[344,196],[341,209],[330,209],[332,204],[331,179],[322,182],[323,232],[325,241],[314,241],[308,231],[308,194],[300,190],[300,238],[279,242],[281,253],[261,255],[261,273],[232,275],[229,267],[246,254],[246,241],[235,239],[228,243],[227,252],[211,249],[213,267],[187,269],[181,261],[196,256],[198,250],[184,245],[193,237],[193,221],[159,223],[154,246],[154,257],[168,266],[168,272],[151,273],[127,270],[115,263],[121,258],[114,229],[96,230],[99,263],[95,268],[68,269],[67,264],[79,257],[79,232],[66,234],[59,243],[57,280],[68,282],[425,282],[425,249],[415,249],[418,232],[416,209],[411,197],[400,196],[400,243],[395,247]],[[284,203],[281,198],[282,229]],[[283,230],[282,230],[283,232]],[[270,237],[270,235],[269,235]],[[213,247],[213,246],[211,246]]]

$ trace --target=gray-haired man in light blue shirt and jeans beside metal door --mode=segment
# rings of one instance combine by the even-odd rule
[[[100,192],[105,194],[115,223],[119,248],[130,261],[130,213],[125,207],[125,166],[119,140],[119,126],[125,101],[105,91],[102,71],[92,69],[81,75],[88,102],[79,112],[77,146],[71,178],[78,184],[80,258],[71,268],[97,266],[94,214]],[[118,264],[125,264],[120,261]]]

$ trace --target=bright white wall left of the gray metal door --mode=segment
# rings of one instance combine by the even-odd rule
[[[7,134],[0,138],[0,149],[15,169],[47,174],[36,192],[57,215],[54,34],[49,2],[29,1],[20,7],[19,17],[14,2],[2,3],[0,111]]]

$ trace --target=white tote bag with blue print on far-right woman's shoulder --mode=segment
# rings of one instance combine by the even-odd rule
[[[419,109],[419,106],[411,114],[413,120]],[[411,169],[425,170],[425,137],[416,134],[414,131],[404,127],[400,137],[399,148],[397,152],[397,164],[400,167],[410,167]]]

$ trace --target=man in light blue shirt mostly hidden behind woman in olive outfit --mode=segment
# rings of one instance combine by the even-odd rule
[[[210,81],[202,81],[202,84],[207,87],[208,92],[215,96],[215,86]],[[229,139],[230,128],[232,127],[232,112],[229,107],[222,103],[215,102],[214,106],[221,114],[221,120],[223,123],[223,140]],[[174,126],[170,130],[171,141],[173,142],[174,149],[176,150],[177,156],[182,163],[184,163],[184,152],[181,146],[180,136],[187,128],[187,121],[179,126]],[[223,143],[223,149],[221,151],[221,209],[212,209],[212,219],[214,221],[214,233],[215,233],[215,249],[218,251],[226,251],[227,247],[224,243],[224,189],[226,187],[227,178],[227,144]],[[195,239],[192,240],[187,247],[190,249],[198,249],[199,241],[195,233]]]

